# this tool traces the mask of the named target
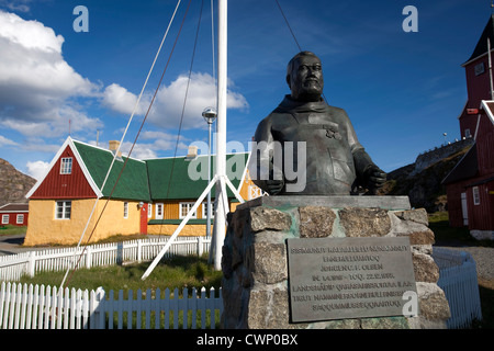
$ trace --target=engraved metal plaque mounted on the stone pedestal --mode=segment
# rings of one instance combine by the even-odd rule
[[[401,316],[414,267],[407,237],[288,239],[291,320]]]

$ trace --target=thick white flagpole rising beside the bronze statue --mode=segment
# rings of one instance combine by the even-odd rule
[[[221,270],[222,248],[225,240],[226,212],[221,179],[226,178],[226,67],[227,67],[227,0],[218,0],[217,34],[217,134],[216,134],[216,200],[214,214],[214,269]],[[226,196],[225,196],[226,197]]]

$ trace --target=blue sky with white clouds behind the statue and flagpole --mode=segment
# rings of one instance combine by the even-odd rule
[[[216,10],[217,0],[214,1]],[[464,69],[491,15],[489,0],[279,0],[302,49],[323,61],[325,97],[347,111],[360,143],[385,171],[460,137]],[[74,9],[88,9],[76,32]],[[182,0],[123,146],[130,149],[170,56]],[[177,0],[0,0],[0,158],[40,177],[69,135],[120,140]],[[406,5],[418,32],[406,33]],[[183,29],[133,156],[173,156],[201,0]],[[214,104],[211,2],[204,0],[178,156],[206,140]],[[217,25],[216,13],[214,23]],[[216,39],[215,39],[216,41]],[[228,3],[227,139],[247,143],[289,93],[297,47],[274,0]],[[69,123],[70,121],[70,123]]]

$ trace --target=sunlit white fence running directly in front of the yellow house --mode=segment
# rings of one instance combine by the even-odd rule
[[[0,281],[18,281],[23,274],[33,276],[42,271],[63,271],[74,268],[91,268],[153,260],[167,244],[169,237],[149,237],[138,240],[33,250],[18,254],[0,256]],[[165,258],[176,254],[199,254],[209,251],[211,238],[179,237],[170,246]]]

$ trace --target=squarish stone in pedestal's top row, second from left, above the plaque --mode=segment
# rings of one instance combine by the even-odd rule
[[[324,238],[333,233],[336,214],[332,208],[322,206],[299,207],[300,237]]]

